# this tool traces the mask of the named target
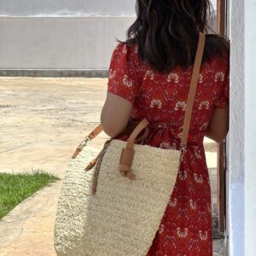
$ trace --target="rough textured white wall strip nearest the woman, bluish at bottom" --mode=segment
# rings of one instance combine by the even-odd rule
[[[228,215],[230,255],[244,254],[245,53],[244,1],[230,0],[230,132]],[[256,194],[255,194],[256,195]],[[254,254],[255,255],[255,254]]]

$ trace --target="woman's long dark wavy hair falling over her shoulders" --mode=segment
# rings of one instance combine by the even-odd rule
[[[210,0],[137,0],[137,19],[125,42],[138,45],[138,55],[160,72],[184,70],[195,61],[198,31],[207,34]],[[212,31],[213,32],[213,31]],[[203,62],[229,53],[230,41],[215,32],[207,34]]]

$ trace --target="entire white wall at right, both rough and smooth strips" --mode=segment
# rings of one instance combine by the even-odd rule
[[[230,255],[255,256],[256,1],[230,3]]]

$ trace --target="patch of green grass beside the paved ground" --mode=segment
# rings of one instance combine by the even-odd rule
[[[42,170],[17,174],[0,172],[0,218],[39,189],[59,179]]]

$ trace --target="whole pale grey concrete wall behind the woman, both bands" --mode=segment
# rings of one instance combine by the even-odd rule
[[[3,70],[108,70],[136,0],[0,0]],[[14,71],[14,72],[12,72]],[[38,73],[40,75],[41,73]]]

